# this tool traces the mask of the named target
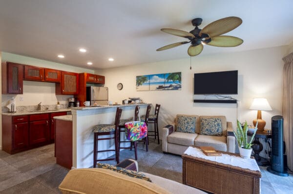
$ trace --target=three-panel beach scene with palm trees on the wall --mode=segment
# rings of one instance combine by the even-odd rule
[[[136,76],[136,90],[181,90],[181,72]]]

